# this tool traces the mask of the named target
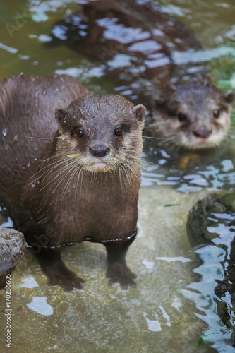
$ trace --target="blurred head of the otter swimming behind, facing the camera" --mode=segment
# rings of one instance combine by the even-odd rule
[[[234,93],[210,83],[169,86],[157,102],[157,128],[169,143],[188,149],[215,147],[227,136]]]

